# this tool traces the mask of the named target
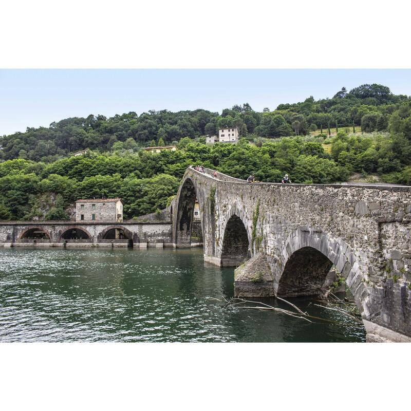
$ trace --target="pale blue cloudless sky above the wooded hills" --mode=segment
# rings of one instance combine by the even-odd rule
[[[250,103],[271,110],[280,103],[332,97],[364,83],[411,95],[409,69],[118,69],[0,70],[0,135],[48,126],[68,117],[150,109],[218,111]]]

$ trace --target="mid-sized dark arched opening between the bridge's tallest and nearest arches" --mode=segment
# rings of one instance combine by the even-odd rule
[[[238,267],[249,259],[249,240],[246,227],[235,214],[228,220],[221,250],[222,267]]]

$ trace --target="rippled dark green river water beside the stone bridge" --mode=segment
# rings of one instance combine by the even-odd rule
[[[208,298],[222,295],[234,295],[234,268],[204,263],[202,249],[0,248],[1,342],[365,341],[363,326],[312,298],[290,301],[333,322]]]

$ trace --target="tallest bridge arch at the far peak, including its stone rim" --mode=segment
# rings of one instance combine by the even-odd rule
[[[201,212],[201,231],[204,233],[204,214],[206,209],[203,207],[203,199],[200,195],[200,190],[195,178],[187,176],[177,193],[177,203],[175,205],[175,218],[173,227],[173,242],[176,247],[190,247],[191,234],[194,221],[194,207],[197,198],[198,205]]]

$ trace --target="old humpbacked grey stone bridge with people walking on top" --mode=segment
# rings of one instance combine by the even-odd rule
[[[334,265],[367,341],[411,341],[411,187],[250,184],[189,167],[171,204],[174,247],[190,246],[196,199],[204,260],[241,265],[236,293],[318,294]]]

